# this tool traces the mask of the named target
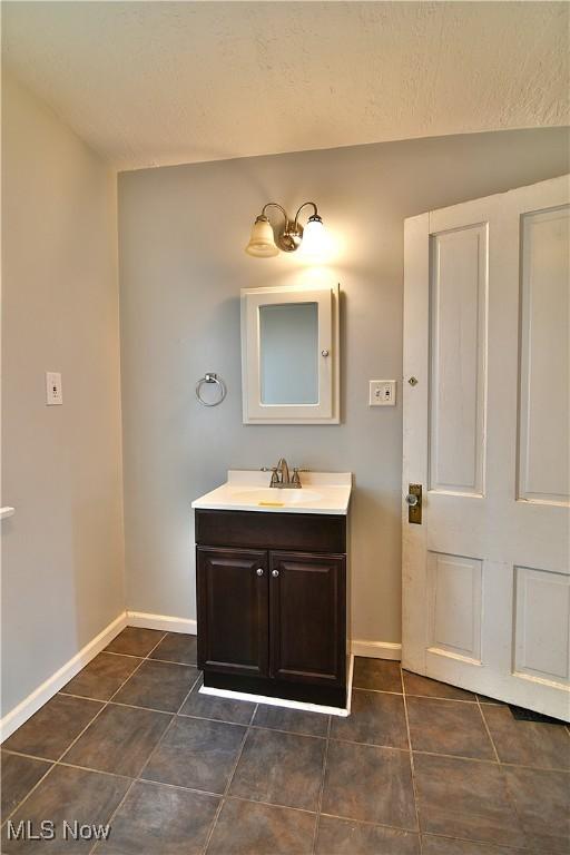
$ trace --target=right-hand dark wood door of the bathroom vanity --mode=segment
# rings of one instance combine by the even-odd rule
[[[344,686],[345,557],[269,552],[271,674]]]

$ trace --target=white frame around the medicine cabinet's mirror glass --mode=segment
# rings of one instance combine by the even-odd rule
[[[283,303],[318,306],[318,402],[263,404],[261,387],[259,308]],[[244,424],[338,424],[338,285],[284,285],[242,288],[242,392]]]

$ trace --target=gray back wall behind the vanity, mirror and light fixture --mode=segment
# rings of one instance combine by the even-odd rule
[[[368,409],[370,379],[402,379],[403,220],[568,171],[563,129],[308,151],[125,173],[119,179],[128,608],[195,616],[190,501],[229,466],[292,463],[355,474],[353,637],[400,640],[401,394]],[[314,199],[341,247],[342,424],[243,425],[239,288],[306,274],[244,254],[269,199]],[[194,384],[228,395],[203,409]],[[400,387],[401,390],[401,387]]]

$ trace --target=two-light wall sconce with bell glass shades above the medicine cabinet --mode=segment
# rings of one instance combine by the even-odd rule
[[[303,227],[298,217],[307,205],[312,206],[313,214]],[[274,232],[265,213],[267,208],[278,208],[282,213],[284,225],[279,232],[276,229]],[[245,250],[256,258],[269,258],[273,255],[278,255],[279,249],[283,249],[284,253],[294,253],[299,246],[303,246],[303,255],[312,256],[318,255],[326,243],[326,230],[314,202],[304,202],[293,219],[289,219],[284,207],[277,205],[276,202],[268,202],[267,205],[263,206],[262,213],[254,223],[252,237]]]

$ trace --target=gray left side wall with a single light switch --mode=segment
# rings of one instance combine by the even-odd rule
[[[115,176],[6,70],[2,168],[6,712],[125,606]]]

